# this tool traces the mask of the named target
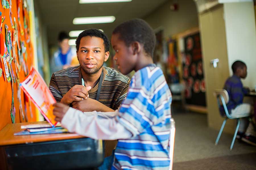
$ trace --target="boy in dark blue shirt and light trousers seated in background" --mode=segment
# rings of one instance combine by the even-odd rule
[[[231,116],[236,117],[240,115],[252,114],[252,106],[248,103],[243,103],[243,96],[250,92],[249,89],[244,88],[241,82],[241,78],[246,78],[247,76],[247,66],[242,61],[235,61],[232,64],[233,76],[229,77],[224,85],[225,90],[227,90],[229,95],[229,102],[227,104],[228,112]],[[222,116],[225,115],[224,108],[221,107]],[[240,127],[238,129],[238,138],[242,141],[256,146],[256,138],[252,135],[246,134],[246,130],[249,125],[248,118],[240,118]]]

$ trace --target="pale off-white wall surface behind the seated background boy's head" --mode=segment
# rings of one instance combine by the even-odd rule
[[[244,86],[256,86],[256,28],[253,2],[225,3],[224,19],[230,75],[235,60],[247,65],[248,75],[242,80]]]

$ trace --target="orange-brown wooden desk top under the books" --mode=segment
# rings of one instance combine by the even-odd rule
[[[24,144],[24,143],[35,143],[35,142],[46,142],[46,141],[56,141],[65,139],[76,139],[82,138],[76,133],[58,133],[58,134],[42,134],[42,135],[14,135],[14,133],[22,131],[20,126],[29,124],[47,124],[47,121],[41,122],[26,122],[26,123],[15,123],[7,124],[0,131],[0,146],[1,145],[14,145],[14,144]]]

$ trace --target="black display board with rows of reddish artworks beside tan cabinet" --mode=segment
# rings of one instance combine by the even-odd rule
[[[183,85],[187,104],[206,106],[200,34],[184,37]]]

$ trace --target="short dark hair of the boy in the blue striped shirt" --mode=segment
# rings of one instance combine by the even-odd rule
[[[156,45],[156,35],[153,29],[142,19],[132,19],[118,25],[113,34],[119,33],[119,39],[124,41],[126,46],[138,41],[144,45],[144,51],[153,57]]]

